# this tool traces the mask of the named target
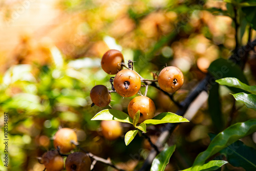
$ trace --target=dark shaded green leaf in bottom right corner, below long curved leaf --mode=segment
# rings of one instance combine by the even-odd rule
[[[243,167],[245,170],[256,170],[256,150],[236,141],[220,152],[225,155],[229,164]]]

